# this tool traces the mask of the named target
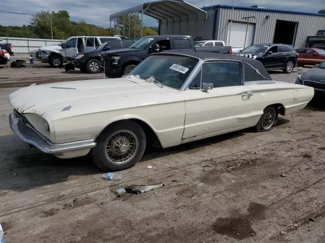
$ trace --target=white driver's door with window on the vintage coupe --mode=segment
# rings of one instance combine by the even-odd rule
[[[250,89],[243,85],[242,64],[213,61],[201,70],[183,92],[186,117],[183,141],[209,137],[244,128],[250,116]],[[212,83],[213,89],[200,88]]]

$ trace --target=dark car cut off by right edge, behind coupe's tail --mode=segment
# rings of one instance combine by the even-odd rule
[[[299,75],[296,84],[313,87],[315,94],[325,95],[325,62]]]

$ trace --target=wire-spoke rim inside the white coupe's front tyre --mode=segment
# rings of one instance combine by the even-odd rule
[[[139,140],[135,133],[119,130],[106,140],[104,154],[112,164],[123,165],[136,156],[138,148]]]

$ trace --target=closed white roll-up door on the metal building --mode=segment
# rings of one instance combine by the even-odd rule
[[[231,31],[232,33],[230,35],[229,45],[234,48],[243,48],[245,43],[246,23],[233,22]],[[228,38],[229,38],[229,32],[230,32],[230,23],[228,24]],[[253,38],[254,38],[254,25],[248,24],[245,47],[252,45]],[[227,40],[227,44],[228,44],[228,40]]]

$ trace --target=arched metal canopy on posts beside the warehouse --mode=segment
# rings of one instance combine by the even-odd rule
[[[204,21],[207,18],[207,13],[204,10],[188,4],[183,0],[161,0],[144,3],[137,7],[112,14],[110,16],[110,25],[112,25],[112,21],[114,21],[115,26],[115,21],[119,17],[130,16],[134,13],[141,14],[141,37],[143,14],[157,19],[159,24],[164,23],[166,26],[172,25],[173,28],[175,23],[179,23],[180,25],[183,20],[188,23],[190,20],[198,21],[201,19]]]

